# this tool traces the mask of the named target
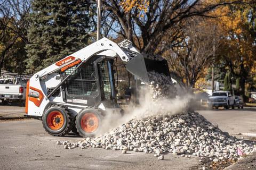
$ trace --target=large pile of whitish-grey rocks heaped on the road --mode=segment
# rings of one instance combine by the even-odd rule
[[[182,157],[191,155],[219,159],[236,159],[237,148],[249,154],[256,143],[246,143],[222,132],[198,113],[172,116],[147,116],[112,129],[97,138],[85,138],[77,143],[60,142],[66,149],[93,147],[134,152],[172,153]]]

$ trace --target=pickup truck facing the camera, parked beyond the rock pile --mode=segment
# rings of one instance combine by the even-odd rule
[[[229,91],[214,91],[212,96],[209,97],[207,104],[209,108],[235,108],[235,96],[232,96]]]

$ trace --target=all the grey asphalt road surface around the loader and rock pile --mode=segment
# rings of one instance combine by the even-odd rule
[[[197,111],[212,124],[218,124],[239,139],[255,140],[244,133],[256,133],[256,108]],[[23,117],[25,107],[0,106],[0,118]],[[77,142],[83,138],[70,133],[65,137],[47,134],[38,120],[0,122],[1,169],[202,169],[198,157],[182,158],[172,154],[158,160],[153,154],[101,148],[64,149],[57,140]],[[256,154],[246,156],[228,170],[256,169]]]

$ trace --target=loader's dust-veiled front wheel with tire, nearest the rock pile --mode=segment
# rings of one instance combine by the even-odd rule
[[[98,109],[84,109],[76,116],[76,130],[82,137],[94,137],[101,127],[101,114]]]

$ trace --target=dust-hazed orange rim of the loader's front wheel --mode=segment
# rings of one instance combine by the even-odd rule
[[[82,129],[85,132],[92,133],[98,128],[99,120],[97,116],[92,113],[86,113],[81,120]]]

